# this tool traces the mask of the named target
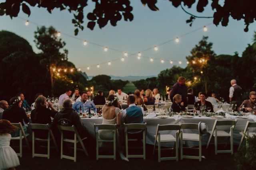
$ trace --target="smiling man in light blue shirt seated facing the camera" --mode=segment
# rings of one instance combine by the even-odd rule
[[[74,111],[79,112],[80,106],[82,108],[82,112],[88,112],[90,108],[94,109],[94,112],[97,112],[97,108],[95,107],[94,103],[90,100],[88,100],[87,92],[82,92],[81,100],[78,100],[73,105]]]

